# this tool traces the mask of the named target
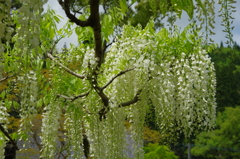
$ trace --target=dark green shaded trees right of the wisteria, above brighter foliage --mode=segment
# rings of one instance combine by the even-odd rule
[[[236,47],[237,48],[237,45]],[[225,107],[240,105],[239,90],[240,52],[237,49],[220,47],[209,54],[216,70],[217,77],[217,110],[224,111]]]

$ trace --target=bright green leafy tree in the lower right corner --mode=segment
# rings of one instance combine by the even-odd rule
[[[239,107],[227,107],[218,114],[217,129],[211,133],[203,132],[195,141],[192,153],[203,158],[239,157]]]

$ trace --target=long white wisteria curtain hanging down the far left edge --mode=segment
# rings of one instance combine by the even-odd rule
[[[19,108],[21,117],[21,124],[19,129],[19,139],[26,140],[28,135],[31,134],[31,128],[33,126],[32,119],[38,113],[36,110],[36,101],[38,96],[38,86],[36,74],[36,59],[40,50],[36,48],[39,46],[40,37],[40,21],[42,16],[42,6],[45,1],[42,0],[20,0],[21,7],[18,10],[11,8],[11,0],[2,1],[0,3],[0,61],[1,74],[11,74],[14,79],[11,81],[17,86],[21,86],[21,90],[16,89],[16,92],[20,92],[19,98],[21,99],[20,107],[19,103],[14,103],[8,99],[5,99],[5,95],[1,94],[1,106],[5,104],[5,108]],[[3,40],[4,39],[4,40]],[[14,44],[14,48],[9,43]],[[5,47],[5,50],[3,49]],[[3,63],[2,63],[3,59]],[[4,73],[3,73],[3,72]],[[18,77],[15,77],[18,74]],[[4,92],[3,92],[4,93]],[[8,114],[7,112],[5,112]],[[4,116],[1,116],[4,118]],[[7,117],[5,116],[5,120]],[[5,131],[8,122],[1,121]],[[1,137],[1,139],[6,139]],[[12,143],[13,141],[11,141]],[[13,143],[12,143],[13,144]],[[4,144],[0,144],[1,157],[4,157]],[[21,146],[22,147],[22,146]],[[25,147],[25,144],[23,145]]]

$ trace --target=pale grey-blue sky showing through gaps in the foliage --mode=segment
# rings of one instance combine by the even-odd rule
[[[217,1],[216,1],[217,2]],[[61,20],[61,22],[58,24],[58,28],[61,28],[66,22],[67,17],[65,15],[65,12],[61,8],[61,6],[58,4],[57,0],[49,0],[47,4],[45,4],[44,8],[46,9],[47,6],[50,6],[50,8],[54,9],[56,13],[60,16],[62,16],[64,19]],[[235,18],[232,26],[235,26],[233,33],[233,40],[237,42],[237,44],[240,45],[240,0],[237,0],[237,3],[235,5],[236,12],[232,14],[232,16]],[[216,6],[216,11],[219,10],[219,7]],[[188,22],[188,16],[186,13],[183,13],[181,20],[177,20],[175,23],[180,28],[184,28],[189,22]],[[215,29],[213,30],[216,34],[211,36],[211,38],[215,41],[215,43],[220,44],[221,41],[226,42],[226,34],[222,31],[224,27],[221,26],[221,18],[217,15],[215,16]],[[70,38],[62,39],[58,45],[57,48],[60,49],[63,47],[63,45],[66,43],[67,46],[69,46],[70,43],[74,45],[78,45],[78,40],[76,34],[73,34]]]

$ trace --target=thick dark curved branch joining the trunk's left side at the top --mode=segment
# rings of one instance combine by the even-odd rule
[[[60,6],[62,6],[62,9],[65,11],[66,16],[70,19],[70,22],[74,22],[76,25],[81,27],[90,26],[90,17],[86,21],[82,21],[70,12],[69,0],[64,0],[64,2],[62,0],[58,0],[58,3]]]

